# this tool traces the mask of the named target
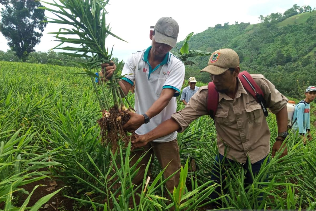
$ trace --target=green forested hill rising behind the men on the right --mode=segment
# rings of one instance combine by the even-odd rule
[[[307,85],[316,85],[316,11],[294,7],[283,14],[260,16],[258,24],[217,24],[193,35],[189,47],[208,52],[232,48],[239,54],[241,70],[261,73],[284,95],[300,98]],[[186,78],[208,82],[209,74],[198,73],[208,59],[191,59],[196,65],[186,66]]]

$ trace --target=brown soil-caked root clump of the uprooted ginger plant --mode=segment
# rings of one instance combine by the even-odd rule
[[[121,140],[128,145],[131,136],[127,135],[127,131],[123,130],[123,125],[130,120],[128,112],[135,112],[133,109],[118,108],[114,106],[109,111],[102,111],[102,118],[98,120],[101,128],[101,142],[105,146],[109,145],[112,152],[115,152]]]

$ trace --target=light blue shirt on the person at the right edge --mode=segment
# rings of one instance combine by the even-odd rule
[[[298,103],[295,106],[294,109],[294,115],[293,115],[293,121],[297,118],[295,123],[293,124],[292,128],[293,131],[296,132],[299,131],[300,134],[305,134],[307,129],[310,129],[310,120],[309,120],[309,103],[302,100],[300,103]]]

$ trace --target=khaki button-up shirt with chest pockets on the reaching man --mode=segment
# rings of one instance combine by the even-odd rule
[[[275,86],[261,74],[251,74],[262,89],[266,107],[272,113],[278,113],[286,106],[286,99]],[[189,124],[202,115],[209,115],[207,110],[208,86],[202,86],[195,93],[187,106],[171,117],[181,126],[183,132]],[[248,94],[238,80],[238,90],[232,99],[219,93],[217,112],[214,118],[217,131],[219,153],[240,163],[246,163],[249,156],[255,163],[270,152],[270,130],[260,104]]]

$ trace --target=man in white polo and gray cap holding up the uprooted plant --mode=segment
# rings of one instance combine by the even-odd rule
[[[125,95],[137,81],[135,83],[136,114],[130,113],[131,119],[123,127],[126,130],[135,131],[137,134],[148,133],[176,112],[175,97],[180,94],[185,68],[181,60],[169,51],[176,46],[178,33],[179,26],[175,20],[170,17],[160,18],[154,30],[150,30],[149,33],[151,46],[133,53],[126,61],[122,75],[127,75],[119,81]],[[114,67],[111,69],[108,64],[103,64],[102,67],[106,67],[106,78],[110,78]],[[162,168],[168,165],[164,171],[165,178],[180,168],[177,132],[134,150],[132,164],[147,151],[149,152],[139,164],[141,167],[133,180],[134,184],[142,183],[146,165],[153,154],[158,158]],[[172,193],[178,183],[179,172],[166,182],[167,189]]]

